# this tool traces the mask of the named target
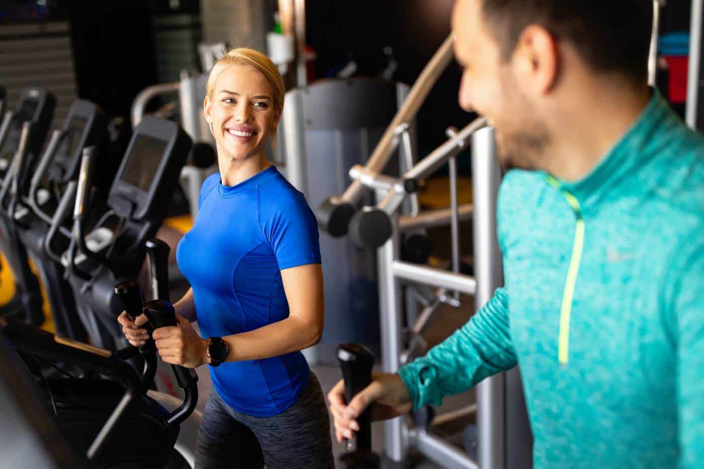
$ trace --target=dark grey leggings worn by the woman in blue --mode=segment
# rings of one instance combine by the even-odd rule
[[[294,404],[273,417],[235,411],[210,392],[196,444],[196,469],[333,469],[330,420],[313,372]]]

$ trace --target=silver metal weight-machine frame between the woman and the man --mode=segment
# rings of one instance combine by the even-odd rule
[[[410,90],[407,101],[392,120],[367,164],[351,168],[349,175],[353,182],[343,195],[334,198],[338,203],[355,204],[361,199],[365,190],[373,190],[378,204],[375,208],[365,207],[363,210],[383,211],[391,220],[391,235],[377,251],[379,303],[382,311],[380,315],[382,370],[386,373],[396,372],[413,354],[415,346],[422,342],[419,335],[422,328],[439,304],[446,303],[459,307],[460,293],[464,293],[473,294],[476,306],[481,307],[491,299],[494,290],[503,284],[501,252],[496,240],[496,196],[501,182],[501,170],[495,158],[494,130],[487,127],[486,120],[483,118],[474,120],[460,131],[448,129],[446,132],[448,141],[420,163],[406,170],[401,177],[380,174],[394,150],[404,144],[405,133],[408,131],[407,123],[415,118],[415,114],[437,77],[450,63],[452,41],[452,36],[448,37],[441,45]],[[469,146],[470,141],[474,204],[460,206],[456,197],[455,158],[460,151]],[[413,158],[410,161],[413,161]],[[401,206],[404,201],[415,196],[417,181],[432,175],[445,163],[450,167],[451,207],[420,213],[416,204],[416,209],[411,211],[410,215],[402,215]],[[459,273],[458,223],[472,216],[474,217],[475,277]],[[353,221],[353,223],[356,222]],[[451,225],[452,271],[400,261],[402,232],[448,224]],[[408,286],[405,297],[402,284]],[[410,313],[408,314],[409,325],[413,324],[410,327],[413,335],[408,349],[404,350],[401,327],[403,304],[409,299],[413,303],[417,300],[424,308],[415,321],[411,319]],[[407,311],[409,309],[406,308]],[[512,373],[517,373],[517,370],[512,370]],[[508,389],[508,386],[513,388]],[[520,403],[508,402],[508,399],[515,399]],[[476,411],[478,461],[474,461],[463,451],[429,433],[427,429],[409,427],[407,419],[403,417],[387,420],[384,423],[386,457],[400,463],[406,458],[408,449],[413,446],[429,459],[446,468],[505,469],[510,459],[507,455],[508,446],[511,446],[511,451],[520,448],[521,454],[524,454],[525,449],[530,450],[532,446],[527,415],[521,417],[520,413],[510,411],[512,408],[520,409],[522,405],[520,380],[507,380],[505,373],[489,377],[477,385],[477,406],[470,406],[452,415],[440,415],[433,420],[437,423]],[[512,416],[511,425],[506,421],[508,415]],[[510,445],[507,442],[510,442]],[[512,467],[529,467],[532,458],[527,459],[528,461],[523,459],[515,461],[517,464]]]

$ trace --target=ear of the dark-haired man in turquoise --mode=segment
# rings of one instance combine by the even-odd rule
[[[545,27],[529,25],[513,53],[515,77],[524,92],[541,96],[558,80],[560,56],[557,39]]]

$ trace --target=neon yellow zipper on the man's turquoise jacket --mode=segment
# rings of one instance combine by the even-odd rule
[[[560,187],[560,183],[552,176],[548,176],[548,183],[558,189],[562,196],[570,204],[574,215],[577,216],[577,230],[574,232],[574,246],[572,246],[572,259],[570,269],[567,270],[567,281],[565,282],[565,292],[562,293],[562,308],[560,308],[560,336],[558,338],[558,361],[560,365],[567,365],[567,357],[570,351],[570,313],[572,313],[572,299],[574,299],[574,284],[577,283],[577,273],[579,263],[582,261],[582,251],[584,249],[584,218],[582,218],[582,208],[579,201],[570,192]]]

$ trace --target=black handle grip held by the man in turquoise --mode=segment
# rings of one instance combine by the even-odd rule
[[[352,398],[372,382],[372,366],[374,354],[360,344],[341,344],[337,348],[337,359],[342,369],[342,379],[345,382],[345,400]],[[371,451],[372,449],[372,413],[367,407],[357,418],[357,449]]]

